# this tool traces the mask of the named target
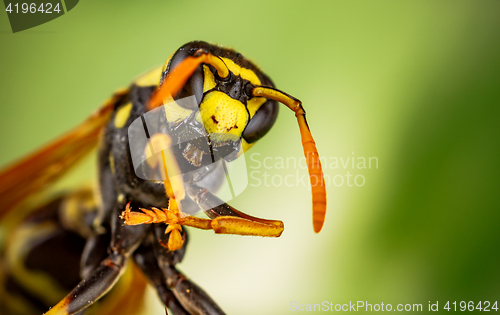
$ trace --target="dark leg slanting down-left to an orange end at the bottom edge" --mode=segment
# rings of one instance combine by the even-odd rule
[[[148,226],[126,226],[118,215],[111,220],[109,256],[46,315],[76,314],[106,294],[125,270],[126,262],[144,239]]]

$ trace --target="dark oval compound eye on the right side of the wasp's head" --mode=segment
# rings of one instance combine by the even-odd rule
[[[267,100],[248,122],[243,131],[243,139],[248,143],[253,143],[264,137],[278,118],[278,111],[278,103],[274,100]]]

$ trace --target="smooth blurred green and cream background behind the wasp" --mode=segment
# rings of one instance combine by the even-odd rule
[[[0,165],[75,126],[185,42],[233,47],[304,102],[321,156],[376,157],[378,168],[324,166],[365,184],[330,184],[320,234],[307,187],[249,186],[233,205],[283,220],[282,237],[192,231],[182,271],[229,314],[287,314],[291,301],[496,301],[499,16],[498,1],[83,0],[12,34],[0,13]],[[292,113],[283,108],[252,152],[300,158]],[[60,186],[91,179],[90,168]],[[258,171],[275,183],[297,174]],[[147,304],[164,314],[154,295]]]

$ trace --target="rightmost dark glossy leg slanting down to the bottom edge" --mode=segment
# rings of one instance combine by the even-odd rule
[[[155,229],[159,241],[154,243],[157,264],[161,269],[168,288],[174,293],[175,298],[191,315],[224,315],[224,311],[203,291],[198,285],[186,278],[175,265],[182,260],[186,243],[177,251],[170,251],[161,245],[164,228]],[[183,229],[185,235],[186,231]],[[172,309],[171,309],[172,310]],[[172,310],[173,312],[173,310]],[[176,313],[174,313],[176,314]]]

